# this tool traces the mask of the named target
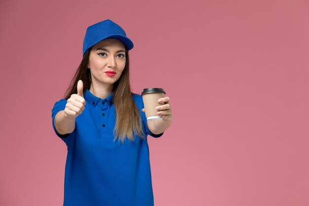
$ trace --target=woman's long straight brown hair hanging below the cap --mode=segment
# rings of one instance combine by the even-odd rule
[[[91,47],[92,48],[92,47]],[[90,50],[89,48],[77,68],[74,77],[71,80],[70,86],[66,91],[65,99],[69,99],[72,94],[77,94],[77,82],[79,80],[83,83],[83,93],[86,89],[90,89],[91,73],[87,68],[89,62]],[[113,102],[116,111],[116,125],[114,128],[114,142],[117,137],[119,141],[124,143],[127,137],[130,141],[134,141],[134,134],[138,135],[140,139],[145,138],[142,128],[142,120],[138,108],[133,101],[133,94],[129,81],[129,51],[125,48],[126,62],[120,78],[114,83]]]

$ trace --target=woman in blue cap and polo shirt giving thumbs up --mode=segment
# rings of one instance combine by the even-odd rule
[[[89,26],[67,95],[52,109],[54,131],[68,147],[64,206],[154,205],[147,135],[162,136],[173,117],[164,97],[163,121],[147,121],[142,96],[130,89],[132,48],[115,22]]]

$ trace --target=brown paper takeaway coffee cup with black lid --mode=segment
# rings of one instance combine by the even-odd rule
[[[155,107],[163,105],[159,103],[159,98],[164,97],[165,91],[162,88],[145,88],[142,92],[142,97],[145,107],[145,115],[147,120],[162,120],[161,115],[158,116]]]

